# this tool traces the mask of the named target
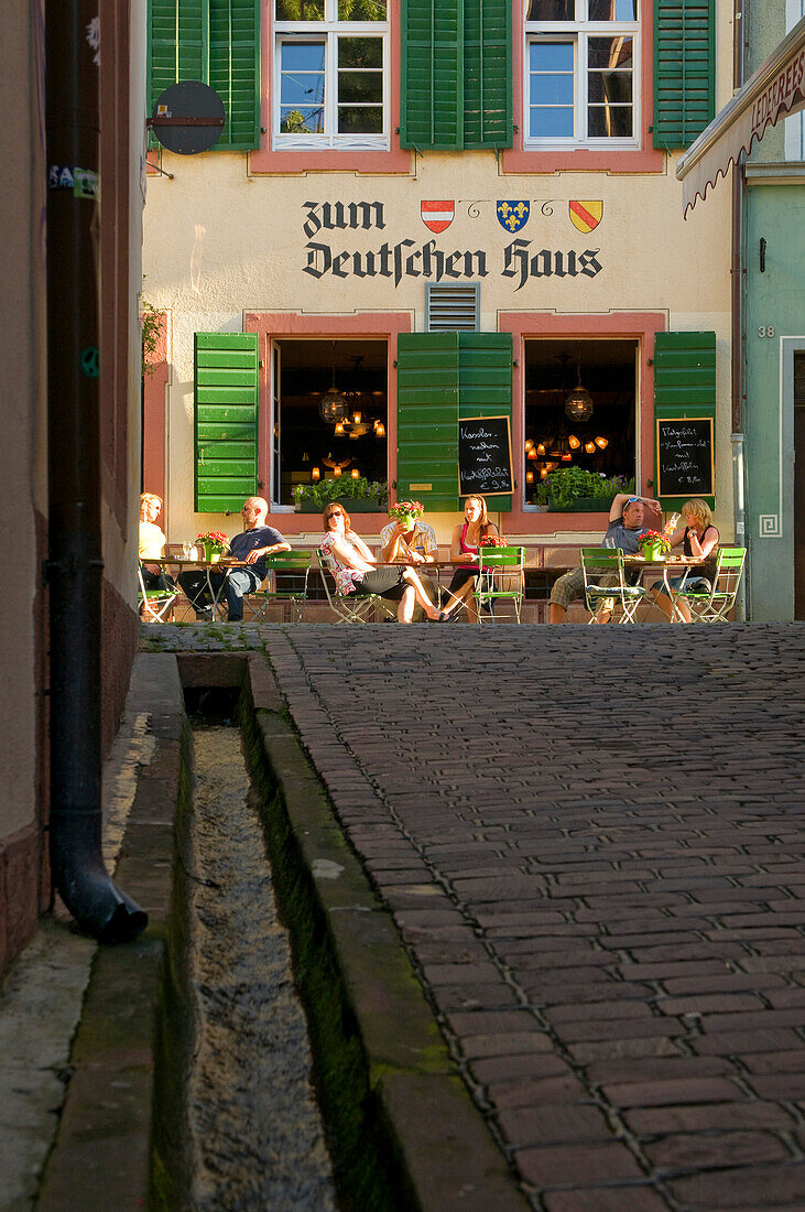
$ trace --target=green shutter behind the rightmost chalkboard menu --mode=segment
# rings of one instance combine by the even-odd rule
[[[654,345],[654,417],[712,417],[715,431],[715,333],[657,332]],[[656,424],[654,427],[656,435]],[[656,442],[656,436],[655,436]],[[654,482],[657,482],[654,452]],[[663,497],[663,509],[679,509],[684,497]],[[714,497],[705,497],[711,509]]]

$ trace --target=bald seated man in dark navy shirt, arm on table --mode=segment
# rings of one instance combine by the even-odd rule
[[[249,497],[241,509],[246,528],[241,534],[235,536],[226,550],[228,556],[242,560],[251,567],[209,573],[209,583],[215,591],[225,581],[224,593],[226,594],[229,610],[226,621],[229,623],[242,622],[243,594],[253,594],[255,589],[260,588],[265,579],[266,555],[291,550],[291,543],[286,543],[280,531],[275,530],[274,526],[265,525],[268,511],[269,504],[263,497]],[[209,583],[207,573],[201,570],[191,570],[179,574],[179,584],[194,604],[196,618],[200,621],[212,618]]]

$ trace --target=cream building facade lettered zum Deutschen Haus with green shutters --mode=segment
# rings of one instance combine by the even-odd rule
[[[312,537],[294,488],[366,476],[445,541],[478,417],[508,423],[511,538],[600,536],[600,509],[545,499],[579,467],[706,496],[731,539],[730,204],[683,221],[673,176],[731,53],[708,0],[151,0],[151,104],[202,79],[226,109],[212,152],[149,177],[168,539],[234,533],[253,492]]]

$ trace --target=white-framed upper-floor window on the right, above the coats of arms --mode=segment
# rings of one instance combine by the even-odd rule
[[[637,147],[639,0],[525,0],[527,147]]]

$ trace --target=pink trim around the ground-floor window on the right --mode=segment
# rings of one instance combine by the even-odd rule
[[[608,315],[556,315],[552,311],[502,311],[499,316],[500,332],[511,332],[513,339],[513,384],[512,384],[512,446],[514,451],[523,450],[524,407],[523,373],[525,368],[524,342],[533,337],[574,337],[591,339],[602,337],[632,338],[639,344],[640,377],[638,410],[640,418],[640,468],[642,480],[638,485],[640,496],[654,496],[648,481],[654,478],[654,335],[665,332],[668,318],[665,311],[614,311]],[[506,515],[506,525],[512,533],[548,533],[556,531],[556,516],[548,514],[527,513],[523,509],[523,475],[519,463],[514,467],[514,479],[518,488],[512,502],[512,513]],[[594,514],[567,515],[563,530],[590,530]]]

